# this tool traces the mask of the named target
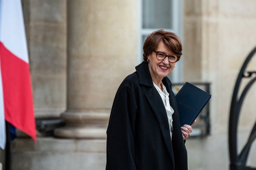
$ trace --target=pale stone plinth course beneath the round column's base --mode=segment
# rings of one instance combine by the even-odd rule
[[[104,170],[106,140],[38,137],[12,142],[12,169],[15,170]]]

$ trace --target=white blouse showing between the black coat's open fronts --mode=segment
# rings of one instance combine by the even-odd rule
[[[169,93],[167,92],[167,90],[166,90],[164,84],[162,84],[162,82],[161,82],[161,86],[162,86],[163,91],[154,83],[154,81],[153,81],[153,84],[154,84],[156,90],[158,91],[159,95],[161,96],[162,101],[164,103],[167,118],[168,118],[168,122],[169,122],[170,135],[171,135],[171,138],[172,138],[172,130],[173,130],[173,128],[172,128],[172,114],[174,113],[174,109],[172,109],[172,107],[170,106]]]

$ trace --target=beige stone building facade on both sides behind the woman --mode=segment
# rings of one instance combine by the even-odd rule
[[[12,142],[14,170],[100,170],[118,85],[137,65],[136,0],[22,0],[36,118],[62,117],[55,137]],[[183,0],[183,80],[211,85],[211,135],[186,142],[191,170],[228,169],[228,117],[236,76],[256,45],[255,0]],[[256,59],[250,63],[255,70]],[[245,82],[246,83],[246,82]],[[243,85],[245,85],[245,83]],[[256,120],[251,88],[239,149]],[[61,137],[61,138],[57,138]],[[256,166],[256,146],[248,164]]]

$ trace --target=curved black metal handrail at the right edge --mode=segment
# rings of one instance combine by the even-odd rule
[[[246,85],[245,89],[243,90],[239,98],[238,98],[238,92],[239,92],[239,87],[240,87],[242,78],[250,78],[253,74],[256,73],[256,71],[253,71],[253,72],[247,72],[247,75],[245,74],[245,69],[255,53],[256,53],[256,47],[250,52],[244,64],[242,65],[241,70],[238,74],[238,78],[236,79],[236,84],[234,87],[233,97],[231,101],[230,115],[229,115],[230,170],[246,170],[246,169],[256,170],[256,168],[249,168],[245,166],[251,144],[256,138],[256,124],[254,125],[254,128],[251,131],[250,137],[246,145],[244,146],[244,148],[242,149],[239,155],[237,151],[238,119],[240,115],[241,106],[248,90],[250,89],[251,85],[255,82],[256,78],[253,78]]]

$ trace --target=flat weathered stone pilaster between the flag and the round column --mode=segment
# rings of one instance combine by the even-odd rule
[[[36,118],[66,109],[66,0],[22,0]]]

